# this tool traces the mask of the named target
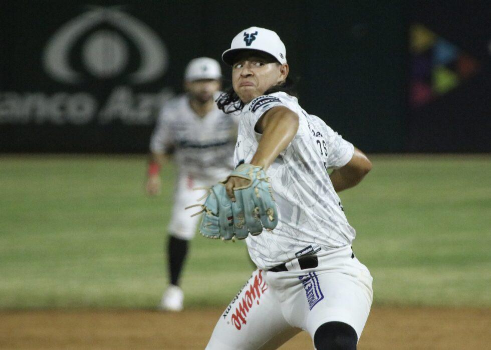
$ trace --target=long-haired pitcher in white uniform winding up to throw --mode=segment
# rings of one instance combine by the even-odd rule
[[[351,249],[355,230],[336,192],[356,185],[371,163],[283,92],[289,65],[274,31],[242,30],[222,59],[232,66],[233,89],[218,106],[240,111],[234,160],[241,165],[226,193],[213,187],[200,230],[230,239],[231,230],[244,237],[246,226],[259,269],[220,316],[207,349],[277,348],[301,329],[317,349],[354,349],[370,311],[372,277]],[[273,231],[262,231],[261,222],[271,228],[276,220],[263,213],[273,203],[260,188],[268,179],[279,217]],[[229,207],[231,218],[220,212]]]

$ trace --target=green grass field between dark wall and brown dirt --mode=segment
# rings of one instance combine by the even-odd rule
[[[374,302],[491,306],[491,157],[372,156],[341,193]],[[144,156],[0,157],[0,308],[154,307],[174,168],[144,194]],[[196,236],[187,306],[224,306],[252,270],[243,242]]]

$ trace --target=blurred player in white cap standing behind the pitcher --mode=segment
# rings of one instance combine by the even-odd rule
[[[188,241],[194,236],[199,219],[199,216],[189,218],[184,207],[195,203],[204,193],[204,190],[192,188],[209,186],[232,168],[231,152],[237,124],[214,103],[220,77],[220,65],[216,60],[207,57],[191,60],[184,74],[186,93],[164,105],[150,140],[149,194],[160,191],[159,169],[172,148],[178,167],[174,207],[168,227],[169,286],[159,305],[164,310],[179,311],[183,306],[179,276]]]

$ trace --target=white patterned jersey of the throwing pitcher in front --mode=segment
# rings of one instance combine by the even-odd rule
[[[252,160],[262,136],[254,130],[256,122],[275,106],[297,113],[299,128],[267,170],[278,203],[278,226],[246,239],[251,258],[264,269],[303,254],[322,254],[346,246],[355,237],[327,172],[328,168],[345,165],[354,147],[319,117],[306,113],[297,98],[276,92],[259,96],[243,107],[235,164]]]

